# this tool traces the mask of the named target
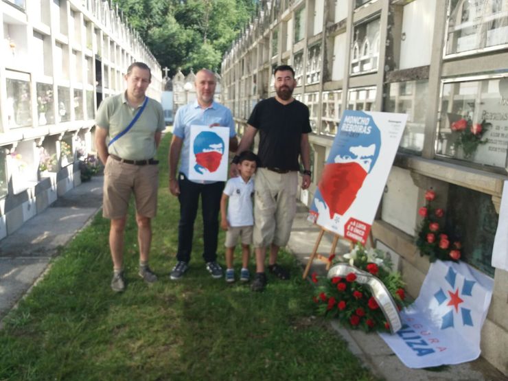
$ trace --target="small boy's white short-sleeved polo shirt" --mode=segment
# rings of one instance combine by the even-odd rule
[[[227,220],[231,227],[246,227],[254,224],[252,194],[253,177],[245,183],[242,176],[230,178],[224,187],[224,194],[229,196]]]

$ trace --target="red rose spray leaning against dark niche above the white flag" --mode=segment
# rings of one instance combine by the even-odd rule
[[[435,198],[435,192],[428,190],[425,192],[426,205],[418,209],[419,215],[424,219],[417,232],[416,246],[420,255],[428,255],[430,262],[435,262],[436,259],[457,262],[461,257],[461,242],[452,240],[443,231],[444,210],[432,206]]]

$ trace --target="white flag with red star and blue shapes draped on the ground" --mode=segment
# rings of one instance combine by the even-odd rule
[[[459,364],[480,356],[481,327],[494,280],[462,262],[430,265],[415,303],[401,312],[402,329],[380,334],[406,367]]]

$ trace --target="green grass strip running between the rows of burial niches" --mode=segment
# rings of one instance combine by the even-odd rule
[[[121,295],[111,291],[108,221],[95,216],[5,318],[0,380],[376,380],[327,322],[312,317],[312,286],[297,275],[301,267],[287,253],[281,262],[294,276],[268,277],[265,292],[212,279],[196,255],[203,246],[198,218],[190,268],[180,281],[170,281],[178,201],[167,187],[169,140],[159,150],[159,212],[153,221],[151,266],[159,281],[148,286],[137,277],[131,210],[128,288]],[[222,232],[219,242],[224,264]]]

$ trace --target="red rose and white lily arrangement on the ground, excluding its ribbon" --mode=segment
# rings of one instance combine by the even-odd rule
[[[409,304],[400,273],[391,272],[389,254],[357,244],[351,253],[343,255],[334,264],[348,260],[349,265],[380,279],[398,310]],[[371,288],[360,284],[355,273],[332,278],[312,274],[312,281],[318,286],[314,302],[320,314],[336,318],[343,326],[355,330],[389,332],[389,322],[373,298]]]

